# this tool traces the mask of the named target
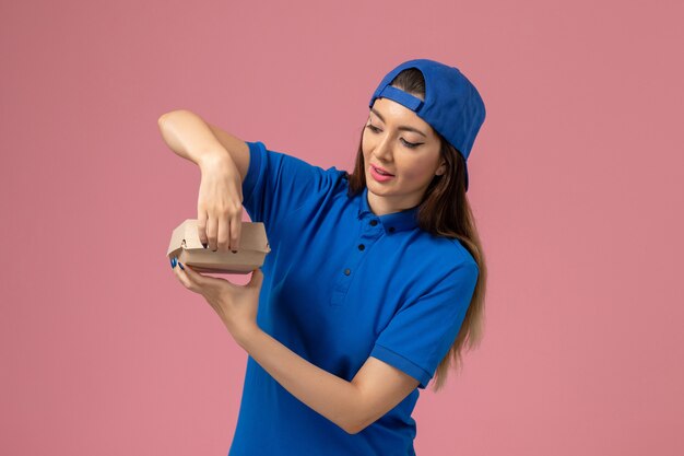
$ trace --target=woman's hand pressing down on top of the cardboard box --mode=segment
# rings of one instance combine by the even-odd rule
[[[243,225],[243,183],[226,151],[199,164],[202,174],[197,201],[197,227],[202,245],[213,252],[237,252]]]

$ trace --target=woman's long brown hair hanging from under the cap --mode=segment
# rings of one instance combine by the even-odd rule
[[[425,100],[425,80],[423,73],[409,68],[400,72],[391,85]],[[462,366],[463,348],[476,348],[482,341],[484,332],[484,294],[487,281],[487,267],[482,249],[475,219],[465,196],[465,175],[462,155],[449,144],[439,132],[435,131],[441,142],[440,155],[447,163],[446,172],[435,176],[429,183],[423,200],[418,206],[418,226],[439,236],[459,239],[470,252],[480,273],[475,290],[465,313],[465,318],[456,340],[445,358],[439,362],[435,373],[433,390],[436,393],[444,386],[451,365],[456,370]],[[356,163],[353,174],[347,174],[350,197],[356,196],[366,187],[365,163],[362,149],[363,128],[356,153]]]

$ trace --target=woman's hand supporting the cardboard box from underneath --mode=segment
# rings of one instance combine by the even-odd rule
[[[174,267],[178,280],[188,290],[201,294],[207,300],[238,342],[243,335],[258,328],[257,309],[263,282],[261,269],[257,268],[251,272],[249,283],[236,285],[225,279],[203,276],[188,265],[182,265],[182,268],[185,269],[181,269],[179,264]]]

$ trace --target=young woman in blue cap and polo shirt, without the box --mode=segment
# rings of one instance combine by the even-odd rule
[[[241,207],[272,252],[245,287],[172,260],[249,354],[229,455],[413,455],[420,389],[482,335],[486,267],[465,197],[485,117],[456,68],[380,82],[352,174],[245,142],[186,110],[169,147],[202,172],[199,235],[237,250]],[[178,266],[178,267],[176,267]]]

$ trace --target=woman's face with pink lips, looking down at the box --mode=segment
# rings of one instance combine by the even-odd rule
[[[376,98],[362,140],[370,209],[382,215],[417,206],[433,177],[445,172],[439,148],[436,132],[413,110]],[[373,166],[393,176],[378,175]]]

